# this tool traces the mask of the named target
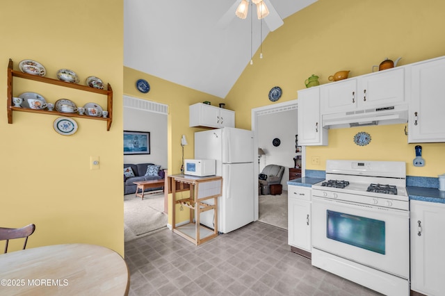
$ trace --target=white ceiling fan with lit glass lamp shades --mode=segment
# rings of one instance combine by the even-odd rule
[[[263,19],[266,22],[270,31],[275,31],[284,24],[282,18],[277,13],[277,10],[273,7],[269,0],[250,0],[257,6],[257,17]],[[248,15],[249,0],[235,0],[234,4],[227,10],[227,12],[221,17],[218,22],[218,26],[225,28],[229,25],[229,22],[236,16],[241,19],[245,19]],[[253,11],[251,13],[254,13]]]

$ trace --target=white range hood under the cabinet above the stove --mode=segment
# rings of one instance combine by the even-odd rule
[[[385,106],[326,114],[322,116],[325,129],[340,129],[353,126],[401,124],[408,121],[408,105]]]

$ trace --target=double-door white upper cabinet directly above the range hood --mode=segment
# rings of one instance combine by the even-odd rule
[[[321,114],[394,106],[405,101],[405,68],[387,69],[321,87]]]

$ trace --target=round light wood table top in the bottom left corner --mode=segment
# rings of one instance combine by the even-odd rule
[[[87,244],[0,255],[1,295],[128,295],[129,270],[116,252]]]

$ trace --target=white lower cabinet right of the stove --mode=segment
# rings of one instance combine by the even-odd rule
[[[445,204],[410,202],[411,290],[445,295]]]

